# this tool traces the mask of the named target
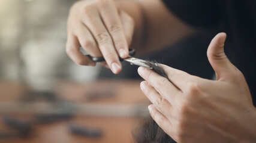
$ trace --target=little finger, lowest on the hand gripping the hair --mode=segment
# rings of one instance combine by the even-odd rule
[[[164,115],[162,115],[154,105],[149,105],[150,116],[155,120],[157,125],[164,130],[169,136],[173,136],[173,126],[171,125],[170,120],[168,120]]]

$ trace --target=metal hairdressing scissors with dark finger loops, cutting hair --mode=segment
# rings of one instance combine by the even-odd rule
[[[135,55],[135,49],[131,49],[129,48],[129,55],[127,58],[120,58],[120,61],[127,61],[129,62],[131,65],[137,65],[137,66],[142,66],[142,67],[146,67],[147,69],[152,69],[152,67],[150,67],[149,65],[147,65],[145,60],[141,60],[139,58],[134,58],[133,56]],[[89,57],[92,61],[94,62],[102,62],[105,61],[104,57],[92,57],[91,55],[86,55],[87,57]]]

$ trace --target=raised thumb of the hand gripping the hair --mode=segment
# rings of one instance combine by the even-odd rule
[[[222,78],[225,79],[228,76],[228,73],[230,73],[230,66],[233,66],[224,52],[224,42],[226,37],[226,33],[218,33],[218,35],[212,39],[207,49],[207,57],[216,73],[217,80]]]

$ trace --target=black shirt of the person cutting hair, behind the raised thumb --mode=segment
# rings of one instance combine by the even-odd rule
[[[256,105],[256,1],[162,1],[171,13],[190,26],[227,33],[225,53],[244,74]]]

